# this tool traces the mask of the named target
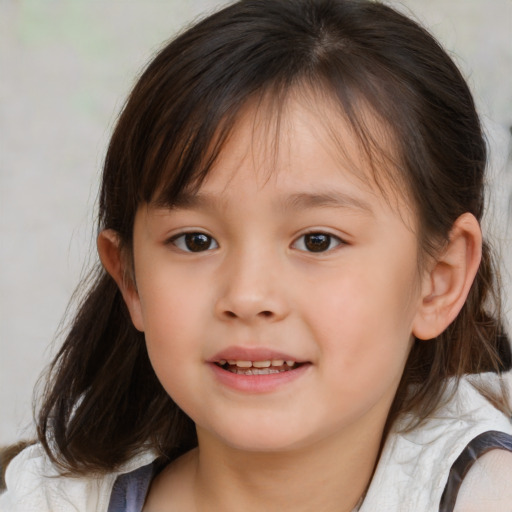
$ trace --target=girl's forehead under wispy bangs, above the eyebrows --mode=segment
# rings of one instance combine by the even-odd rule
[[[329,202],[329,195],[340,198],[332,190],[337,183],[362,209],[370,209],[364,196],[402,211],[409,202],[398,184],[396,161],[389,130],[369,109],[359,110],[355,124],[318,94],[289,94],[280,104],[260,99],[241,109],[199,190],[186,187],[177,202],[190,203],[198,192],[221,201],[238,182],[242,188],[254,182],[257,190],[286,185],[296,197],[309,189]]]

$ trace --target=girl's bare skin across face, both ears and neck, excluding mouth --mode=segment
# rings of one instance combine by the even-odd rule
[[[476,220],[461,218],[420,270],[412,209],[361,179],[366,160],[338,125],[357,172],[304,103],[290,100],[278,146],[264,109],[249,106],[196,196],[139,208],[135,283],[116,234],[100,235],[155,372],[198,432],[199,449],[161,473],[145,510],[350,511],[414,335],[437,335],[462,306]],[[206,249],[190,252],[184,233],[206,235]],[[326,250],[308,250],[311,233],[328,235]],[[306,364],[271,389],[240,389],[212,363],[233,347]]]

